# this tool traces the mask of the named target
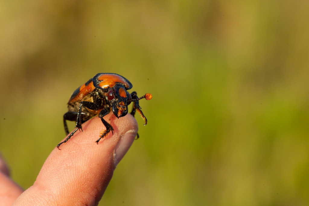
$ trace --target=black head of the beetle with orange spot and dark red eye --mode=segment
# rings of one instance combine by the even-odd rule
[[[111,104],[114,115],[119,118],[128,114],[128,100],[131,95],[123,85],[112,87],[107,94],[107,98]]]

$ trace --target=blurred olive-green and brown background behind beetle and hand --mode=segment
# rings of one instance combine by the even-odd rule
[[[308,205],[308,9],[1,1],[0,150],[13,179],[33,184],[65,137],[71,93],[112,72],[153,99],[99,205]]]

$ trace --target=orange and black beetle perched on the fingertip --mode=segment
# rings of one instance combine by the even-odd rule
[[[128,114],[128,105],[133,103],[131,115],[135,115],[135,111],[142,116],[145,124],[147,119],[139,106],[139,100],[145,98],[150,100],[152,95],[146,93],[144,96],[138,98],[137,93],[133,91],[131,94],[127,91],[132,88],[131,82],[123,76],[115,73],[99,73],[93,78],[89,79],[85,84],[78,87],[71,95],[68,104],[68,111],[63,115],[63,124],[66,135],[69,134],[66,120],[76,121],[75,129],[66,138],[65,141],[59,143],[57,148],[63,143],[66,143],[77,130],[82,130],[82,124],[91,117],[98,115],[101,118],[106,130],[101,132],[100,138],[95,141],[99,144],[101,138],[113,133],[113,127],[106,120],[104,116],[110,111],[119,119]]]

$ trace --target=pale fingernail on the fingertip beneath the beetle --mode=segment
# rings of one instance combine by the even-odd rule
[[[127,151],[129,150],[130,146],[132,145],[135,139],[135,136],[136,131],[130,130],[120,137],[115,147],[115,153],[114,153],[115,167],[120,162],[120,160],[125,156],[125,153],[127,153]]]

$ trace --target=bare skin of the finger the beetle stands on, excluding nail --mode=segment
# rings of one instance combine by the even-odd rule
[[[53,149],[35,183],[13,205],[97,205],[115,169],[114,151],[121,138],[132,142],[137,122],[131,115],[104,117],[114,128],[96,144],[105,129],[97,117],[85,122],[83,132]],[[63,140],[62,140],[63,141]]]

